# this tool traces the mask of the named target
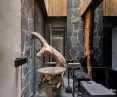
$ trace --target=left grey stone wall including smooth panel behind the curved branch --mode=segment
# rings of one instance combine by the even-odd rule
[[[22,66],[22,97],[34,97],[37,90],[43,60],[35,57],[36,50],[41,47],[37,39],[31,38],[31,32],[43,35],[43,12],[38,0],[22,0],[22,57],[28,58],[28,63]],[[24,53],[23,53],[24,52]]]

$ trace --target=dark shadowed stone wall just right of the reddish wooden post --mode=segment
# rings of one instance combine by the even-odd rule
[[[94,11],[93,49],[94,58],[103,65],[103,5]]]

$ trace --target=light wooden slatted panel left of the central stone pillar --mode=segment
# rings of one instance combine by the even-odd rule
[[[67,0],[44,0],[48,16],[67,16]]]

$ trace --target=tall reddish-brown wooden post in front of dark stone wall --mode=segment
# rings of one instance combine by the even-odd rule
[[[92,10],[87,9],[85,14],[85,55],[87,56],[88,76],[92,79],[92,64],[91,64],[91,30],[92,30]]]

